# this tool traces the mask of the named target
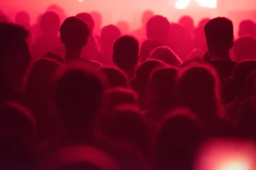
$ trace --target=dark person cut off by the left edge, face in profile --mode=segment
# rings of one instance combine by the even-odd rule
[[[23,27],[0,23],[0,100],[24,103],[20,93],[31,55],[27,45],[29,32]]]

